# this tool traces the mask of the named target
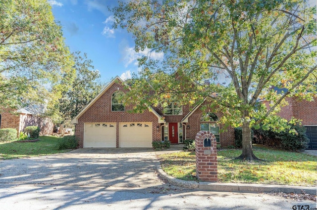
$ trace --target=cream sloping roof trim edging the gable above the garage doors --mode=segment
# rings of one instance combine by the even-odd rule
[[[82,116],[105,92],[106,90],[108,90],[116,81],[121,82],[124,85],[127,85],[124,83],[123,80],[121,80],[118,76],[116,76],[110,83],[108,83],[104,89],[102,89],[102,91],[93,99],[89,102],[89,104],[81,111],[78,113],[78,115],[71,120],[71,124],[77,124],[78,123],[78,119],[80,118],[80,116]],[[162,119],[162,117],[151,107],[148,106],[149,110],[158,118],[158,123],[165,123],[165,121]]]

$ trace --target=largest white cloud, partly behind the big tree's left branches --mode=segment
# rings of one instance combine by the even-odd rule
[[[162,60],[164,57],[163,52],[155,52],[155,51],[151,52],[149,48],[146,48],[140,52],[136,52],[133,47],[125,47],[122,53],[123,53],[122,60],[125,63],[124,64],[125,67],[128,67],[130,64],[134,64],[135,66],[137,66],[138,65],[137,59],[144,55],[151,57],[151,59],[155,59],[155,60]]]

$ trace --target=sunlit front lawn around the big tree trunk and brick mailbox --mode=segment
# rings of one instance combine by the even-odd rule
[[[315,186],[317,158],[297,152],[254,147],[254,154],[265,161],[234,160],[241,150],[217,151],[218,180],[231,183]],[[162,169],[182,180],[195,180],[195,152],[160,155]]]

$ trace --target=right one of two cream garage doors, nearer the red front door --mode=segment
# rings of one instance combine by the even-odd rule
[[[152,123],[120,123],[120,147],[152,147]]]

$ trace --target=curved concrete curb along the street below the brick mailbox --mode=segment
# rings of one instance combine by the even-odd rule
[[[269,184],[246,184],[246,183],[221,183],[221,182],[196,182],[184,181],[174,178],[165,173],[160,166],[157,167],[159,177],[166,182],[187,189],[218,191],[218,192],[244,192],[244,193],[270,193],[270,192],[283,192],[283,193],[296,193],[302,194],[302,190],[307,194],[316,195],[316,187],[304,186],[288,186],[288,185],[269,185]]]

